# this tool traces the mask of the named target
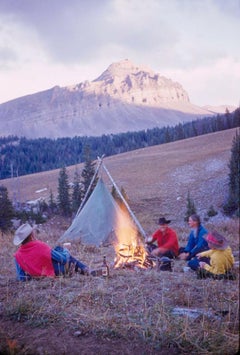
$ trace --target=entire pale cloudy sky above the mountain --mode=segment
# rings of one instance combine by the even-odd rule
[[[240,0],[0,0],[0,103],[128,58],[192,103],[240,103]]]

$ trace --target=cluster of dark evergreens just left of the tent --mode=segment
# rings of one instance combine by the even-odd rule
[[[21,222],[31,221],[32,223],[44,223],[46,219],[53,215],[70,217],[79,209],[82,202],[86,203],[94,190],[97,177],[95,177],[95,162],[90,158],[90,149],[84,149],[84,166],[80,172],[74,174],[73,184],[69,184],[67,168],[59,170],[58,192],[54,196],[50,191],[48,201],[39,201],[37,206],[26,208],[24,204],[13,204],[8,197],[8,190],[4,185],[0,185],[0,230],[7,232],[12,227],[12,220],[18,219]],[[90,185],[91,184],[91,185]],[[89,186],[91,188],[89,189]]]

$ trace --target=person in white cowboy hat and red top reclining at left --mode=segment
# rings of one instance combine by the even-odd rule
[[[17,280],[26,281],[33,277],[54,277],[65,275],[74,268],[80,274],[89,274],[88,267],[73,258],[67,249],[35,239],[35,230],[30,224],[21,225],[15,232],[13,244],[20,247],[14,254]]]

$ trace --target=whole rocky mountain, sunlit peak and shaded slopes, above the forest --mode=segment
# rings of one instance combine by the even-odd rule
[[[183,87],[129,60],[97,79],[23,96],[0,105],[0,135],[100,136],[175,125],[213,112],[191,104]]]

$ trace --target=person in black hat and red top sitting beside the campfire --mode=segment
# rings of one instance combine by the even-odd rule
[[[151,237],[148,237],[146,241],[150,255],[158,257],[162,261],[163,265],[160,266],[160,270],[171,270],[171,259],[178,256],[179,243],[177,233],[169,228],[169,223],[171,223],[170,220],[160,217],[158,221],[159,229]]]

